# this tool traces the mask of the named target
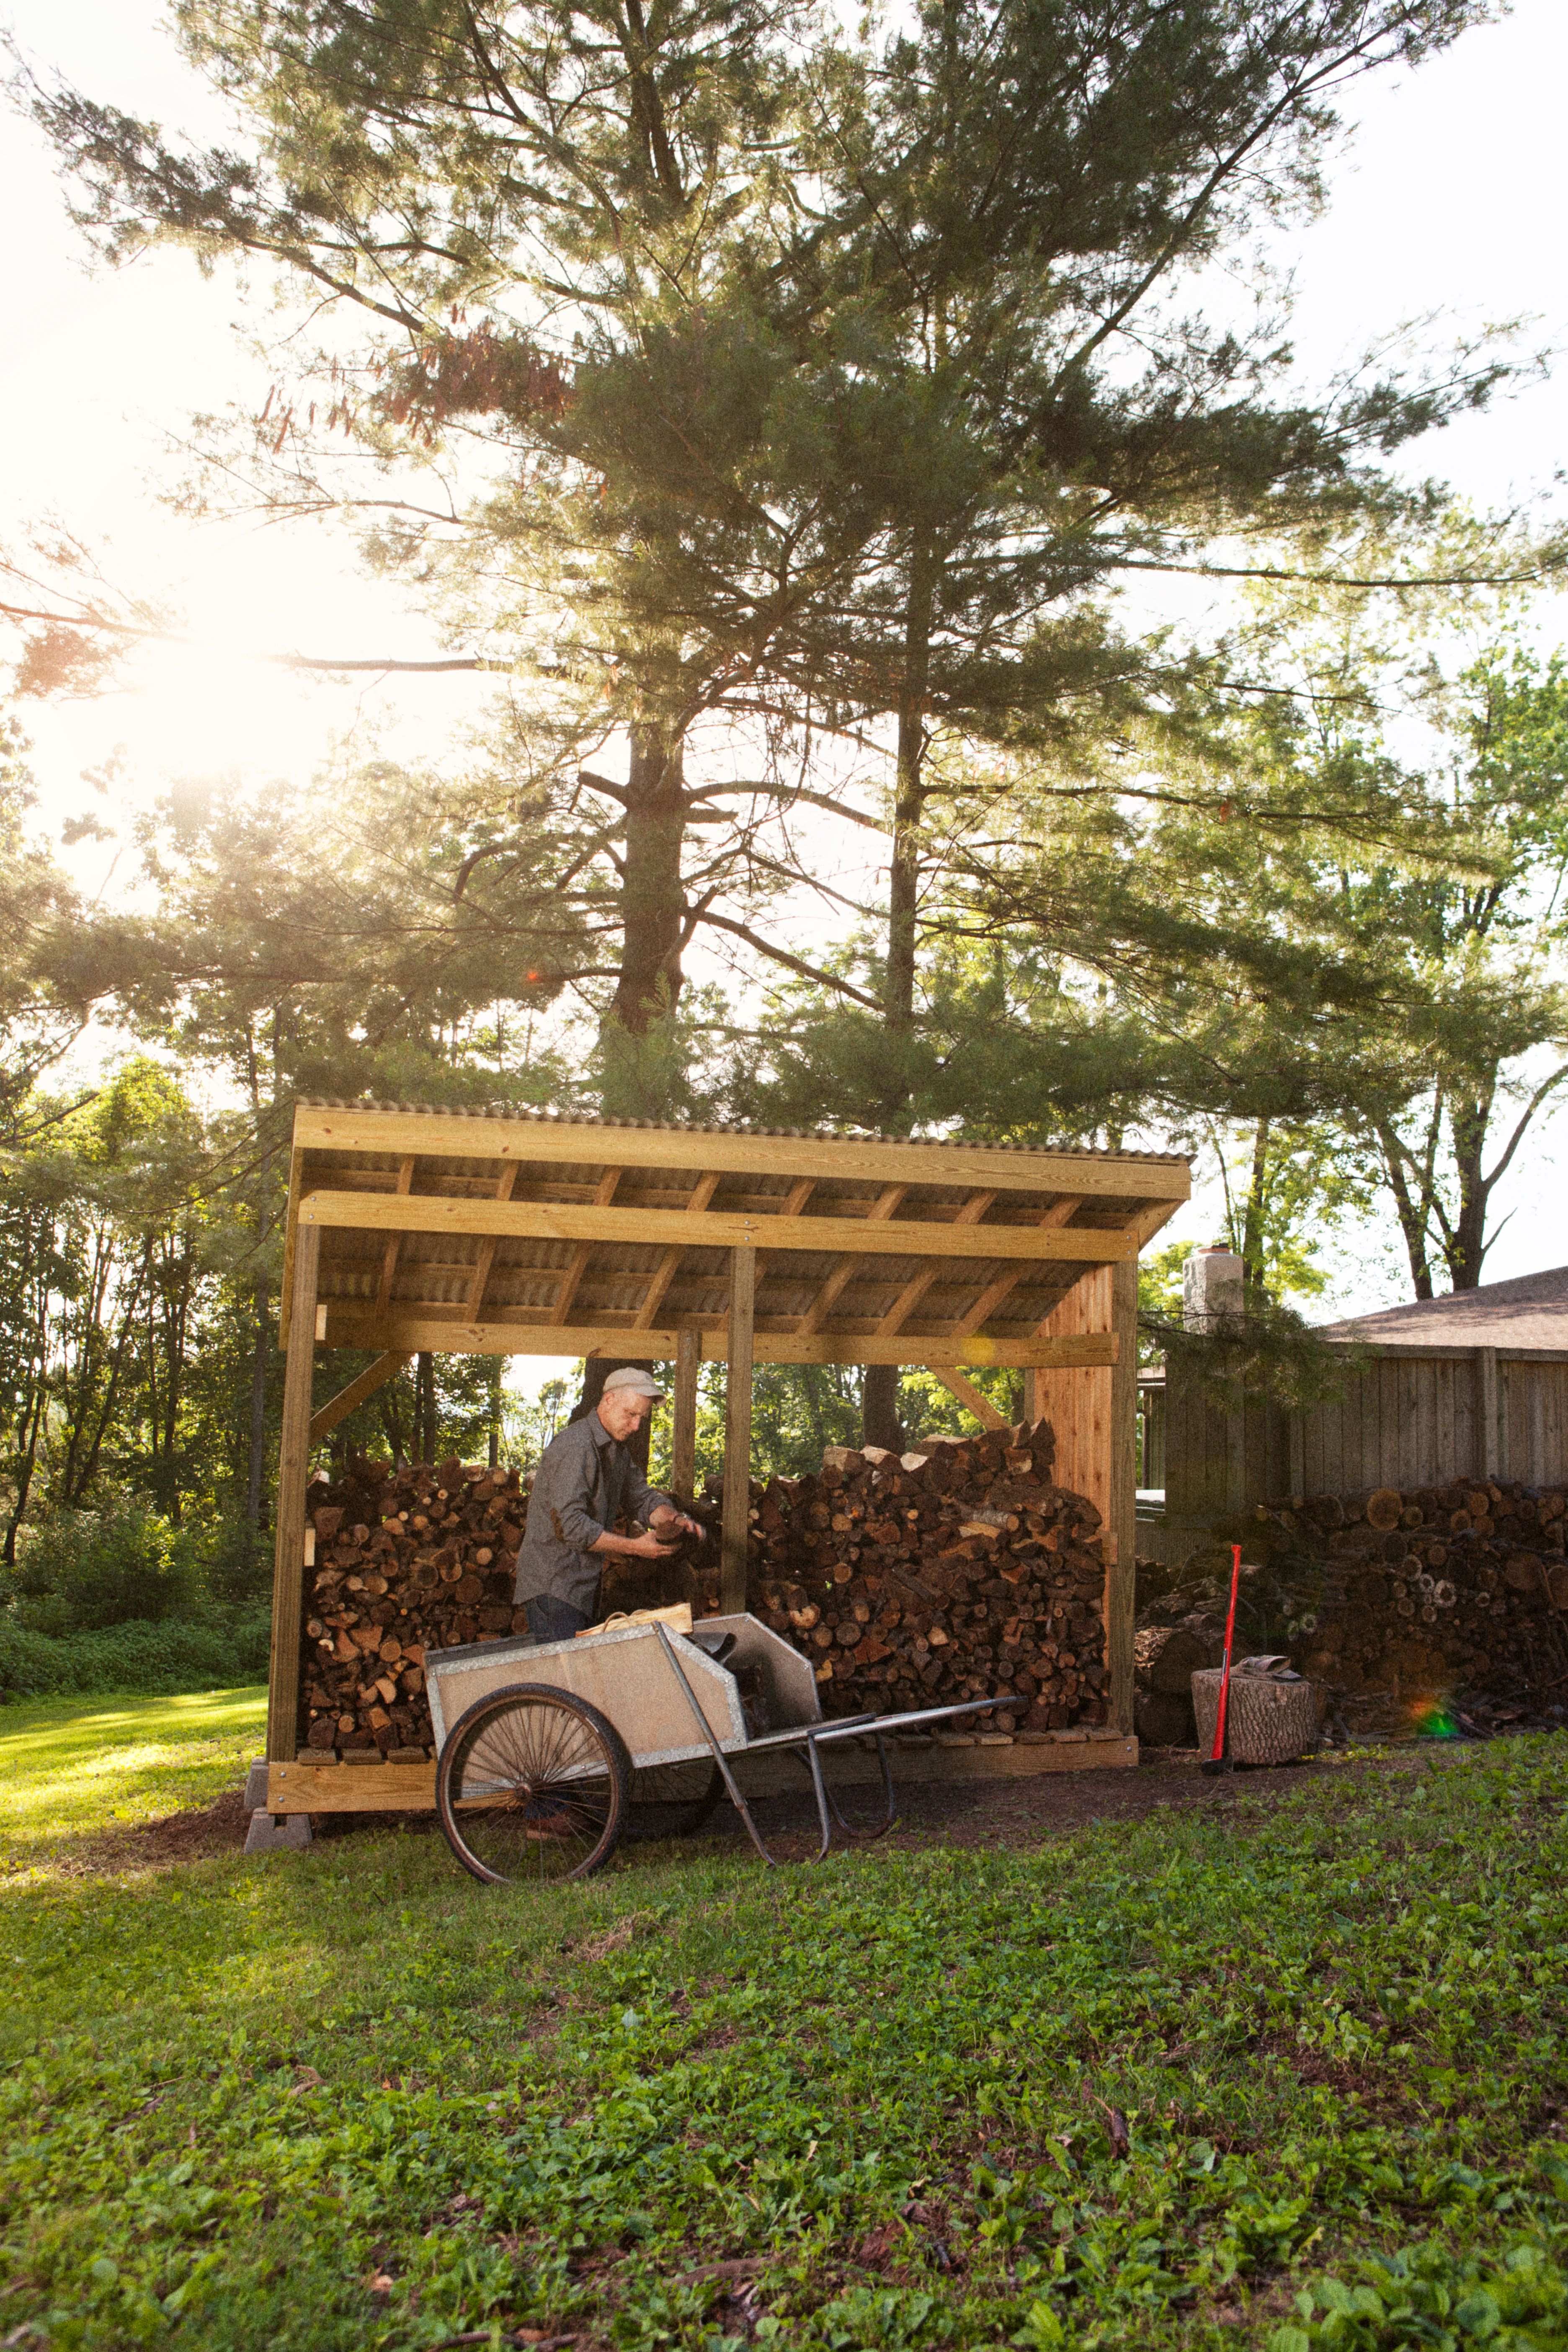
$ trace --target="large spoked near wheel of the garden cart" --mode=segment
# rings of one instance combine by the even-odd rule
[[[517,1682],[458,1717],[435,1766],[435,1811],[477,1879],[585,1879],[616,1851],[632,1764],[597,1708]]]

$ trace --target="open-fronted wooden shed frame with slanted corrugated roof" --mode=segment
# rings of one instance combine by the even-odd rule
[[[301,1103],[268,1703],[268,1809],[393,1802],[296,1755],[310,1451],[416,1350],[675,1364],[691,1491],[701,1362],[729,1374],[724,1609],[745,1606],[752,1367],[1025,1374],[1056,1477],[1107,1522],[1112,1717],[1133,1710],[1138,1251],[1187,1200],[1175,1155]],[[376,1362],[315,1402],[317,1357]],[[329,1383],[324,1383],[329,1385]],[[733,1475],[738,1472],[738,1475]],[[421,1802],[409,1797],[404,1802]]]

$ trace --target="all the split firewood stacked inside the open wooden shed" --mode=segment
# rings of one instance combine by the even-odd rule
[[[1100,1515],[1051,1482],[1053,1451],[1041,1421],[924,1454],[835,1446],[818,1475],[752,1482],[752,1606],[811,1658],[825,1715],[1006,1696],[980,1729],[1105,1722]],[[717,1512],[717,1496],[698,1505]],[[390,1472],[353,1458],[310,1486],[301,1748],[430,1750],[425,1651],[527,1630],[512,1609],[524,1515],[515,1470],[458,1461]],[[717,1611],[715,1538],[663,1569],[609,1562],[602,1606],[672,1588]]]

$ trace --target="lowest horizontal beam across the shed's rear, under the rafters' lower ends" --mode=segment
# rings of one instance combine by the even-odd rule
[[[491,1322],[470,1324],[423,1315],[393,1315],[381,1322],[362,1301],[346,1301],[327,1310],[327,1343],[331,1348],[402,1348],[416,1355],[430,1348],[435,1355],[628,1355],[637,1341],[637,1355],[668,1362],[682,1329],[693,1324],[663,1324],[635,1331],[628,1324],[545,1324],[545,1322]],[[729,1345],[726,1327],[701,1331],[705,1364],[722,1364]],[[954,1345],[952,1334],[931,1331],[922,1336],[898,1334],[896,1338],[872,1338],[870,1334],[820,1334],[811,1331],[752,1331],[752,1355],[757,1364],[1112,1364],[1117,1338],[1110,1331],[1091,1331],[1072,1338],[1027,1334],[1025,1338],[980,1338],[978,1334]]]

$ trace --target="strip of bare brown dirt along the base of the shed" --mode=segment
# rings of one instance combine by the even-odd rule
[[[1093,1820],[1140,1820],[1161,1806],[1232,1806],[1239,1797],[1269,1802],[1293,1797],[1307,1780],[1328,1773],[1410,1771],[1425,1764],[1427,1752],[1429,1743],[1420,1743],[1354,1762],[1326,1757],[1211,1778],[1199,1771],[1197,1755],[1145,1750],[1145,1762],[1133,1771],[1053,1771],[964,1783],[912,1780],[898,1788],[898,1820],[886,1844],[903,1851],[938,1844],[1027,1849]],[[846,1792],[844,1809],[851,1823],[860,1823],[877,1813],[879,1802],[875,1788],[856,1788]],[[816,1809],[809,1795],[764,1797],[755,1804],[755,1818],[780,1860],[804,1860],[816,1851]],[[313,1818],[313,1830],[317,1837],[364,1837],[397,1820],[414,1835],[440,1835],[430,1813],[327,1813]],[[242,1851],[247,1823],[242,1792],[233,1790],[216,1804],[188,1813],[165,1813],[134,1830],[115,1830],[49,1860],[73,1877],[169,1870],[212,1853]],[[708,1828],[698,1832],[698,1842],[705,1851],[726,1846],[741,1853],[745,1851],[745,1830],[733,1809],[719,1804]]]

